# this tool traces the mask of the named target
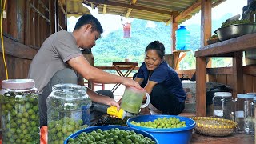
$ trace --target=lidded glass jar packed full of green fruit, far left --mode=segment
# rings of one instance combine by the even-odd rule
[[[2,81],[0,110],[3,143],[39,143],[38,90],[33,79]]]

